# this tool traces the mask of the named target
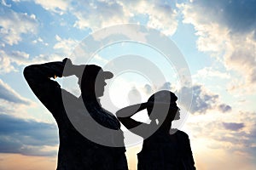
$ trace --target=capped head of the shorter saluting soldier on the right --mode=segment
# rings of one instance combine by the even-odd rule
[[[148,103],[154,105],[147,108],[148,116],[150,116],[152,120],[158,119],[160,123],[166,123],[169,126],[173,120],[180,118],[176,101],[177,96],[168,90],[161,90],[151,95],[148,99]],[[163,113],[163,111],[167,111],[167,113]],[[167,114],[167,116],[160,114]]]

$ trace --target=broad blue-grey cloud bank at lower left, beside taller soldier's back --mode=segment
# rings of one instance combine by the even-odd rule
[[[0,152],[26,156],[55,156],[58,144],[54,124],[0,114]]]

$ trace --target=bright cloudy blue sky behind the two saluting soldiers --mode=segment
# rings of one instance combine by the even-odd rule
[[[112,28],[129,32],[122,29],[127,29],[122,27],[127,24],[159,31],[162,38],[172,40],[189,79],[183,77],[173,60],[166,61],[164,54],[154,48],[157,43],[147,45],[153,34],[150,31],[146,36],[130,35],[134,42],[123,39],[105,46],[102,42],[103,48],[92,50],[95,53],[90,62],[119,73],[109,82],[103,106],[114,113],[147,101],[157,90],[172,90],[181,97],[178,102],[185,121],[177,127],[189,134],[197,169],[255,169],[255,8],[255,0],[1,0],[0,169],[56,167],[57,126],[28,87],[23,77],[25,66],[65,57],[80,64],[79,57],[91,49],[84,46],[90,47],[86,44],[92,41],[90,38],[101,40],[104,29],[108,34]],[[164,48],[165,44],[160,46]],[[135,69],[153,64],[164,81],[155,83],[158,81],[147,77],[153,74],[150,69],[131,71],[125,59],[135,59],[131,67]],[[126,70],[114,70],[117,67],[111,65],[115,62],[121,63],[119,69]],[[75,77],[70,77],[68,83],[56,81],[79,96]],[[183,102],[188,93],[191,106]],[[108,100],[114,107],[108,105]],[[137,119],[145,121],[143,116]],[[131,145],[126,155],[130,169],[136,169],[141,144]]]

